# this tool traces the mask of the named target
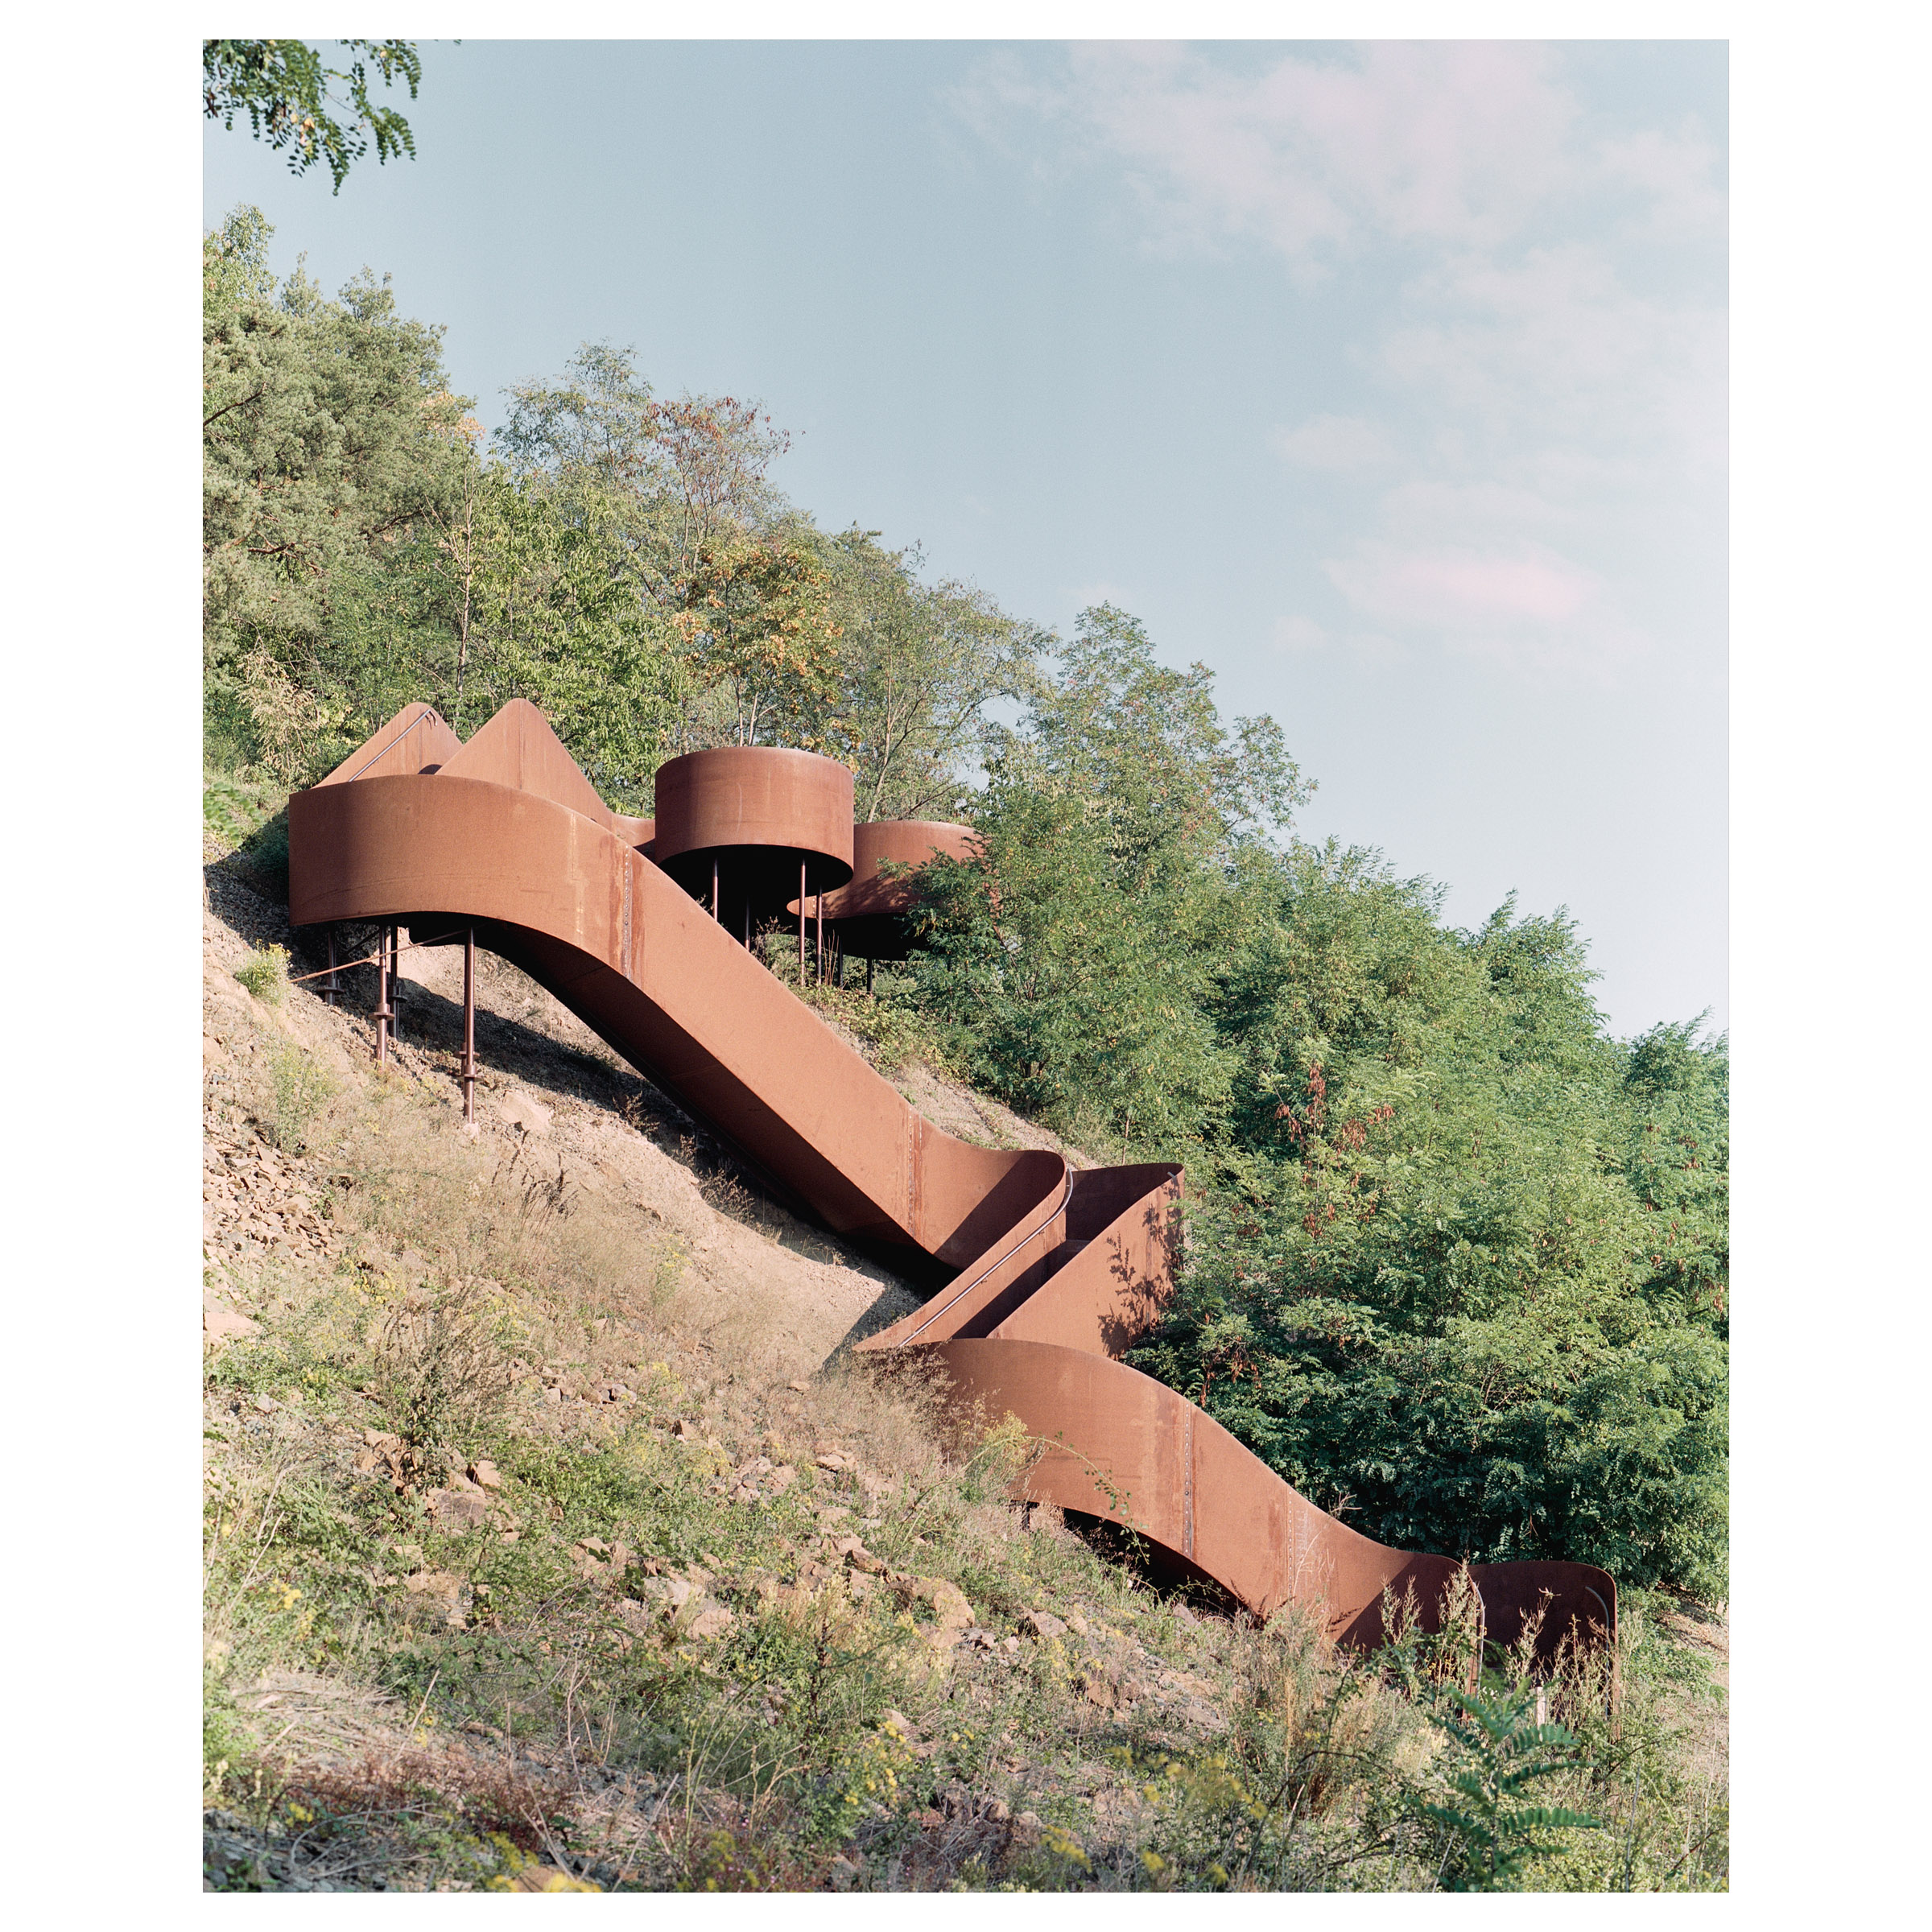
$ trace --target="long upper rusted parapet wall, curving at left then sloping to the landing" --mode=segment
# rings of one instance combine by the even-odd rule
[[[298,792],[288,819],[294,923],[477,925],[838,1233],[960,1265],[1065,1179],[1057,1153],[923,1121],[690,895],[566,806],[439,773]]]

